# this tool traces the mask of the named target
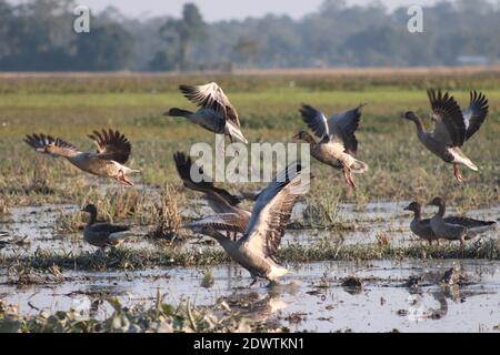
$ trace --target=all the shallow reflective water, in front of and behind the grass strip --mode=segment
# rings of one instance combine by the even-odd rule
[[[420,243],[409,232],[404,203],[370,203],[362,210],[341,205],[347,223],[357,229],[336,231],[288,231],[283,243],[313,243],[320,239],[338,239],[339,243],[374,243],[377,233],[386,233],[391,243]],[[10,239],[29,236],[24,247],[9,245],[0,254],[31,255],[37,250],[78,253],[93,250],[81,236],[54,232],[61,213],[76,211],[74,205],[18,207],[0,223]],[[470,211],[468,215],[497,220],[500,206]],[[453,213],[453,211],[450,211]],[[296,209],[296,216],[300,206]],[[486,237],[498,237],[499,232]],[[154,247],[137,242],[133,247]],[[333,332],[497,332],[500,324],[500,261],[484,260],[408,260],[363,262],[319,262],[290,264],[293,274],[280,285],[268,287],[260,282],[251,288],[249,274],[229,264],[208,267],[213,284],[202,287],[203,268],[161,267],[142,271],[80,272],[62,271],[63,281],[56,284],[18,285],[9,282],[1,268],[0,300],[18,305],[21,314],[40,311],[53,313],[77,308],[86,316],[106,317],[112,312],[98,298],[116,296],[124,305],[152,304],[157,293],[167,303],[189,298],[197,305],[226,302],[227,306],[253,320],[278,323],[291,331]],[[444,273],[460,270],[461,282],[446,283]],[[351,276],[361,287],[342,286]]]

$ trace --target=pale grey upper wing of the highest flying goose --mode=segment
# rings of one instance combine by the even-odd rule
[[[238,129],[240,128],[238,112],[229,101],[226,93],[216,82],[204,85],[180,85],[179,90],[188,100],[196,103],[198,106],[211,109],[218,113],[221,113]]]

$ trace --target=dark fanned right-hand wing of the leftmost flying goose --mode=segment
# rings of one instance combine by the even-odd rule
[[[89,138],[96,142],[98,146],[97,156],[100,159],[112,160],[120,164],[124,164],[129,160],[132,145],[119,131],[93,131],[92,134],[89,134]]]

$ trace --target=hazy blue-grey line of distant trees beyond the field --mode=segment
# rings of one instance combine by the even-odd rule
[[[500,0],[424,8],[423,33],[407,8],[326,0],[300,20],[268,14],[207,23],[188,3],[180,18],[92,13],[74,33],[73,0],[0,0],[1,71],[203,70],[342,65],[457,65],[500,59]]]

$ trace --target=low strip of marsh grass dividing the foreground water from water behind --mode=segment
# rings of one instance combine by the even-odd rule
[[[379,243],[342,245],[319,241],[311,246],[290,244],[279,250],[277,260],[281,263],[309,263],[322,261],[370,261],[370,260],[446,260],[486,258],[500,260],[500,241],[478,240],[468,243],[463,250],[457,243],[410,246],[393,246]],[[37,251],[33,255],[3,256],[3,265],[22,265],[33,270],[48,270],[58,265],[61,270],[141,270],[149,267],[209,266],[230,262],[226,252],[218,247],[186,250],[174,244],[159,244],[153,250],[132,250],[126,246],[112,248],[106,254],[99,252],[60,253]]]

